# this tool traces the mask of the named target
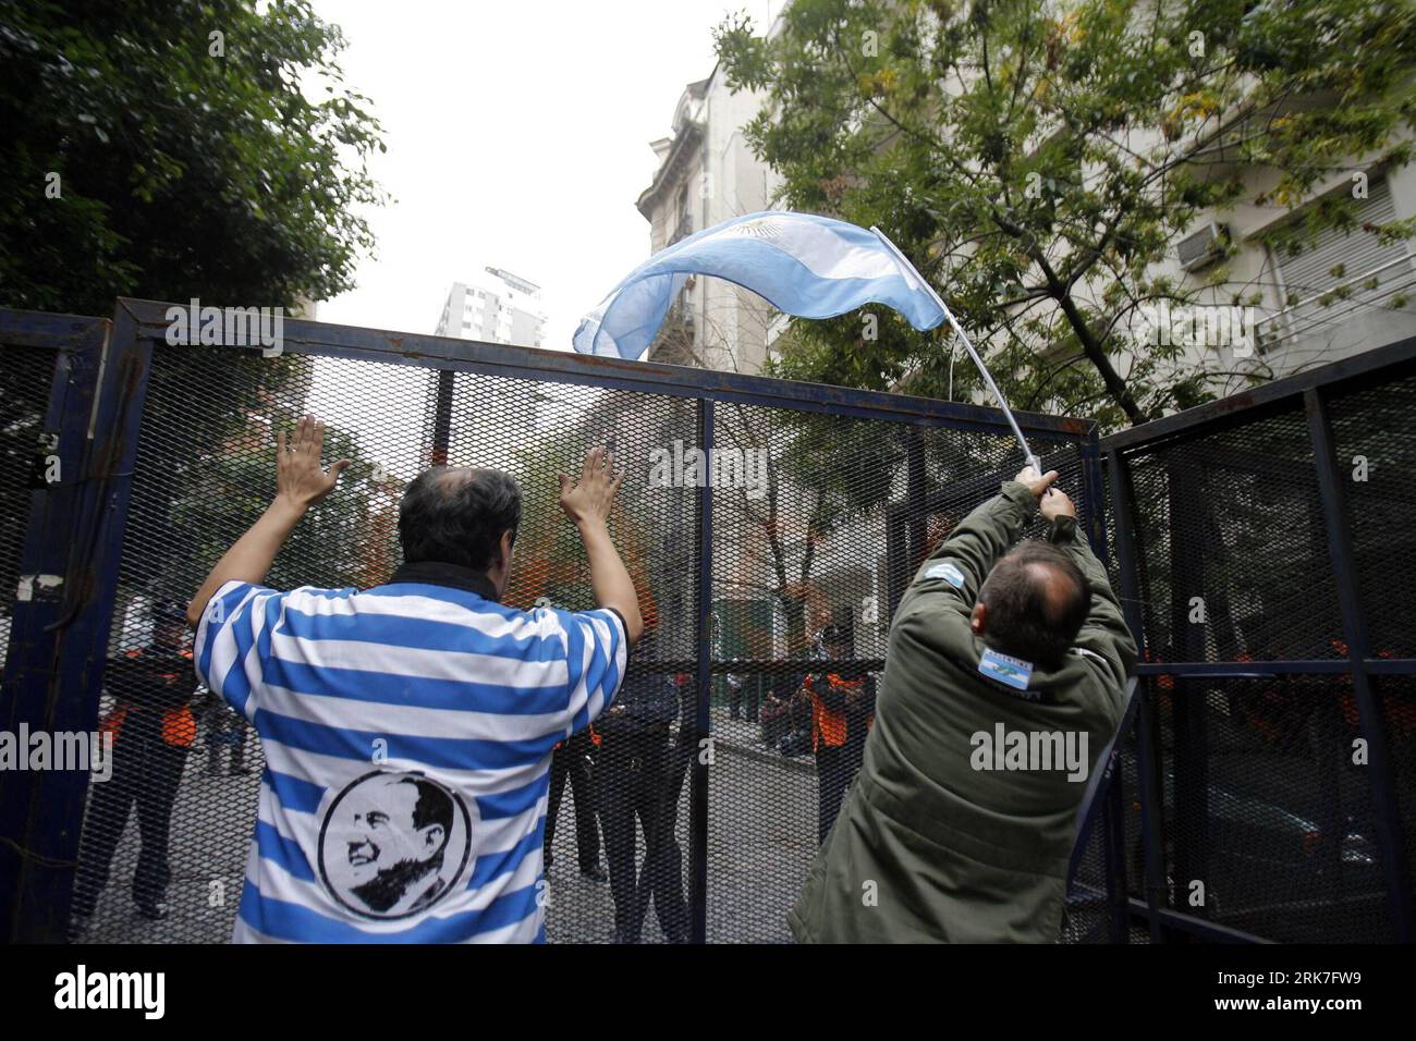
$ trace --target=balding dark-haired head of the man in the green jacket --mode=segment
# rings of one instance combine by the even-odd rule
[[[1086,620],[1092,584],[1055,545],[1028,541],[994,565],[978,602],[990,647],[1056,667]]]

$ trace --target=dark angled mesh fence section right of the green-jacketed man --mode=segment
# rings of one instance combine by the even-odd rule
[[[1277,384],[1246,415],[1216,405],[1113,438],[1146,659],[1172,667],[1148,687],[1155,870],[1188,919],[1307,942],[1408,928],[1393,887],[1409,885],[1416,824],[1416,603],[1393,576],[1416,562],[1402,489],[1416,378],[1389,354],[1359,377],[1334,367],[1331,387]],[[1383,660],[1389,674],[1369,664]],[[1131,887],[1143,863],[1137,846]]]

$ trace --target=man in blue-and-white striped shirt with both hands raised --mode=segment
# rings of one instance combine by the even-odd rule
[[[624,477],[599,448],[559,474],[593,610],[501,603],[521,487],[472,467],[404,491],[385,585],[278,592],[276,552],[347,465],[323,440],[309,416],[280,432],[275,500],[187,609],[200,678],[266,759],[232,939],[542,942],[551,749],[612,702],[641,627],[606,528]]]

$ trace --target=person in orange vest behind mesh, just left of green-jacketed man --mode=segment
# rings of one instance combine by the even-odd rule
[[[821,632],[827,661],[851,657],[851,630],[830,625]],[[865,753],[865,735],[875,710],[875,677],[848,677],[844,666],[807,673],[801,690],[811,702],[811,751],[816,753],[817,841],[826,841],[841,799],[855,780]]]

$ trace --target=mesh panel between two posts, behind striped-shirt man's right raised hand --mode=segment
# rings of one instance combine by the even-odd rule
[[[674,446],[695,442],[697,402],[459,374],[453,414],[466,419],[449,462],[500,466],[523,483],[511,606],[595,606],[585,552],[556,504],[556,474],[578,473],[592,445],[623,467],[610,531],[644,635],[615,705],[552,752],[547,938],[684,940],[700,489],[675,480],[673,465]]]

